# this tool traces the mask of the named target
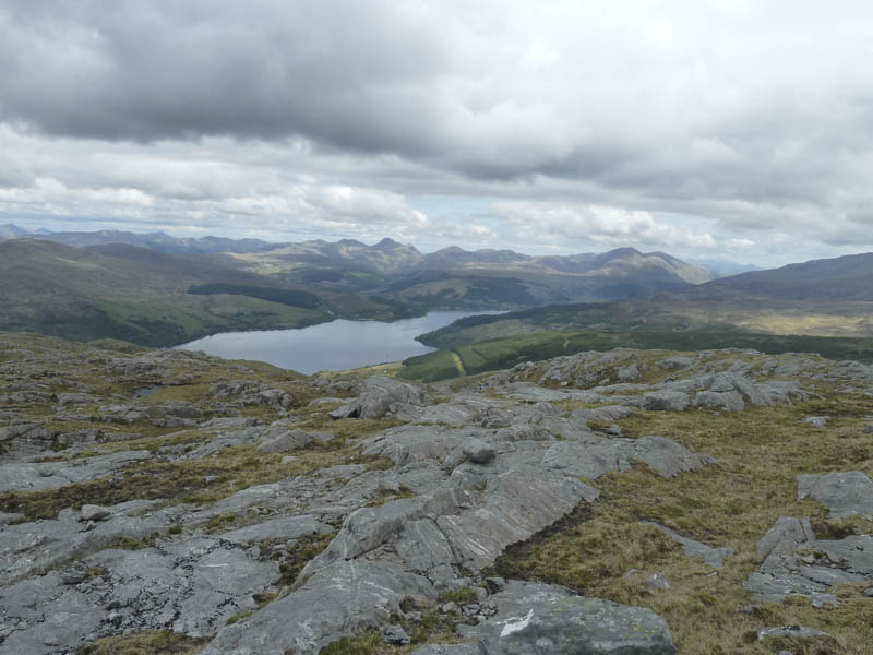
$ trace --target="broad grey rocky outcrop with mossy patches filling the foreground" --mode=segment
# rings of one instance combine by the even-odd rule
[[[0,653],[48,655],[159,630],[210,639],[208,655],[315,654],[368,629],[405,645],[434,623],[465,642],[423,645],[419,655],[674,653],[649,610],[490,569],[521,547],[585,538],[588,527],[612,538],[625,488],[645,496],[648,486],[719,478],[697,473],[715,463],[707,449],[690,448],[705,437],[683,444],[669,416],[642,412],[729,420],[713,412],[803,401],[803,376],[827,382],[832,370],[809,357],[617,349],[525,362],[458,389],[262,376],[183,352],[71,346],[46,360],[27,346],[0,347],[2,357]],[[863,384],[857,367],[836,368]],[[335,418],[363,420],[331,421],[340,400]],[[393,427],[375,431],[383,424],[366,419],[376,418]],[[653,434],[651,425],[668,427]],[[741,471],[734,465],[725,471]],[[598,513],[595,486],[618,512]],[[798,499],[824,503],[833,517],[863,516],[870,488],[860,471],[803,475]],[[695,499],[634,502],[646,508],[635,515],[650,507],[677,527],[657,525],[685,557],[722,568],[711,575],[736,573],[742,558],[703,543],[722,533],[691,516]],[[816,605],[837,602],[834,584],[873,588],[870,539],[817,539],[809,521],[780,519],[758,544],[762,564],[746,588]],[[739,541],[731,533],[729,543]],[[639,546],[645,557],[651,545]],[[673,568],[668,583],[657,571],[667,572],[665,552],[637,564],[641,582],[626,588],[681,598],[687,580]],[[610,575],[624,584],[623,573]]]

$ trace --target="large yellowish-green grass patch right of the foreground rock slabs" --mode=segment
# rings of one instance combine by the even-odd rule
[[[754,605],[742,588],[761,561],[757,540],[778,516],[810,516],[821,537],[870,534],[873,522],[827,519],[826,509],[806,499],[797,502],[796,477],[803,473],[862,471],[873,477],[873,444],[863,433],[870,400],[825,390],[824,400],[793,406],[739,413],[638,413],[620,421],[625,434],[661,434],[691,450],[714,455],[717,465],[661,478],[645,466],[613,473],[591,483],[600,499],[590,519],[563,525],[525,549],[509,549],[498,571],[566,585],[587,595],[644,606],[670,626],[683,655],[849,653],[870,655],[873,603],[861,597],[864,585],[836,590],[841,607],[816,609],[803,598]],[[800,424],[803,416],[827,414],[824,429]],[[645,525],[655,521],[736,555],[720,570],[685,557],[665,535]],[[636,569],[639,574],[626,575]],[[645,584],[661,573],[666,591]],[[764,627],[801,624],[825,631],[836,641],[798,643],[752,641]]]

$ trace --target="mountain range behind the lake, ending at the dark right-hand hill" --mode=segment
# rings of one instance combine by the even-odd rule
[[[168,345],[226,330],[674,291],[716,275],[662,252],[531,257],[392,239],[270,243],[0,226],[0,330]]]

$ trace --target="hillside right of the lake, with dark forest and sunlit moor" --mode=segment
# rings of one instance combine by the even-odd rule
[[[471,317],[421,335],[400,374],[441,379],[585,349],[755,348],[873,360],[873,254],[791,264],[608,303]]]

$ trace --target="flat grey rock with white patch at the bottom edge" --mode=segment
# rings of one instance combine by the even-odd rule
[[[462,629],[465,636],[479,640],[481,655],[675,653],[667,623],[648,609],[516,581],[491,600],[495,616]]]

